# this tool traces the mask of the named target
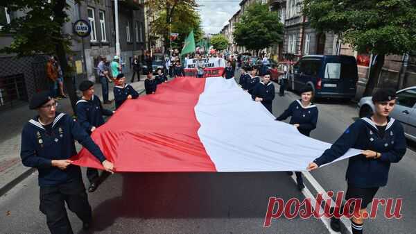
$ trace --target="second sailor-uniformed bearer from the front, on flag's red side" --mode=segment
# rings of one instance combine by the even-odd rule
[[[79,90],[83,92],[83,97],[76,102],[77,121],[91,135],[96,128],[105,123],[103,115],[111,116],[113,111],[103,108],[100,99],[94,95],[92,81],[81,82]],[[88,167],[87,178],[89,181],[88,192],[94,192],[99,185],[98,169]]]

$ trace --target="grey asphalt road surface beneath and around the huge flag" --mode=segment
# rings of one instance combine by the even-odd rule
[[[276,97],[275,115],[298,98],[286,93]],[[318,128],[312,137],[327,142],[335,141],[357,115],[353,103],[321,101],[318,108]],[[346,166],[341,161],[312,174],[325,190],[345,190]],[[388,220],[379,212],[365,224],[366,233],[416,233],[415,168],[416,153],[409,149],[390,169],[388,186],[376,195],[403,198],[403,219]],[[306,186],[315,195],[307,181]],[[89,194],[94,215],[90,233],[329,233],[315,218],[280,218],[263,228],[269,197],[304,199],[284,172],[114,174]],[[0,233],[49,233],[38,206],[37,174],[33,174],[0,197]],[[69,218],[74,233],[83,233],[79,219],[71,212]]]

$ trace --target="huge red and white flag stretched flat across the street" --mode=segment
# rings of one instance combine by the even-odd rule
[[[300,134],[234,79],[175,78],[127,100],[92,134],[115,172],[304,171],[331,144]],[[350,149],[338,160],[359,154]],[[102,169],[83,148],[74,164]]]

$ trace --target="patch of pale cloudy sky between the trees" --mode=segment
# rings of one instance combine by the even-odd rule
[[[196,0],[202,29],[205,33],[220,33],[228,20],[240,9],[241,0]]]

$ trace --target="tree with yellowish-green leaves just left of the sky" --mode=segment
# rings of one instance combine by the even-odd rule
[[[150,22],[150,31],[162,35],[164,47],[169,48],[169,22],[172,33],[179,33],[177,40],[172,42],[173,47],[182,47],[187,35],[193,30],[195,40],[204,35],[201,28],[200,15],[196,11],[198,4],[195,0],[153,0],[146,2],[149,12],[155,15]]]

